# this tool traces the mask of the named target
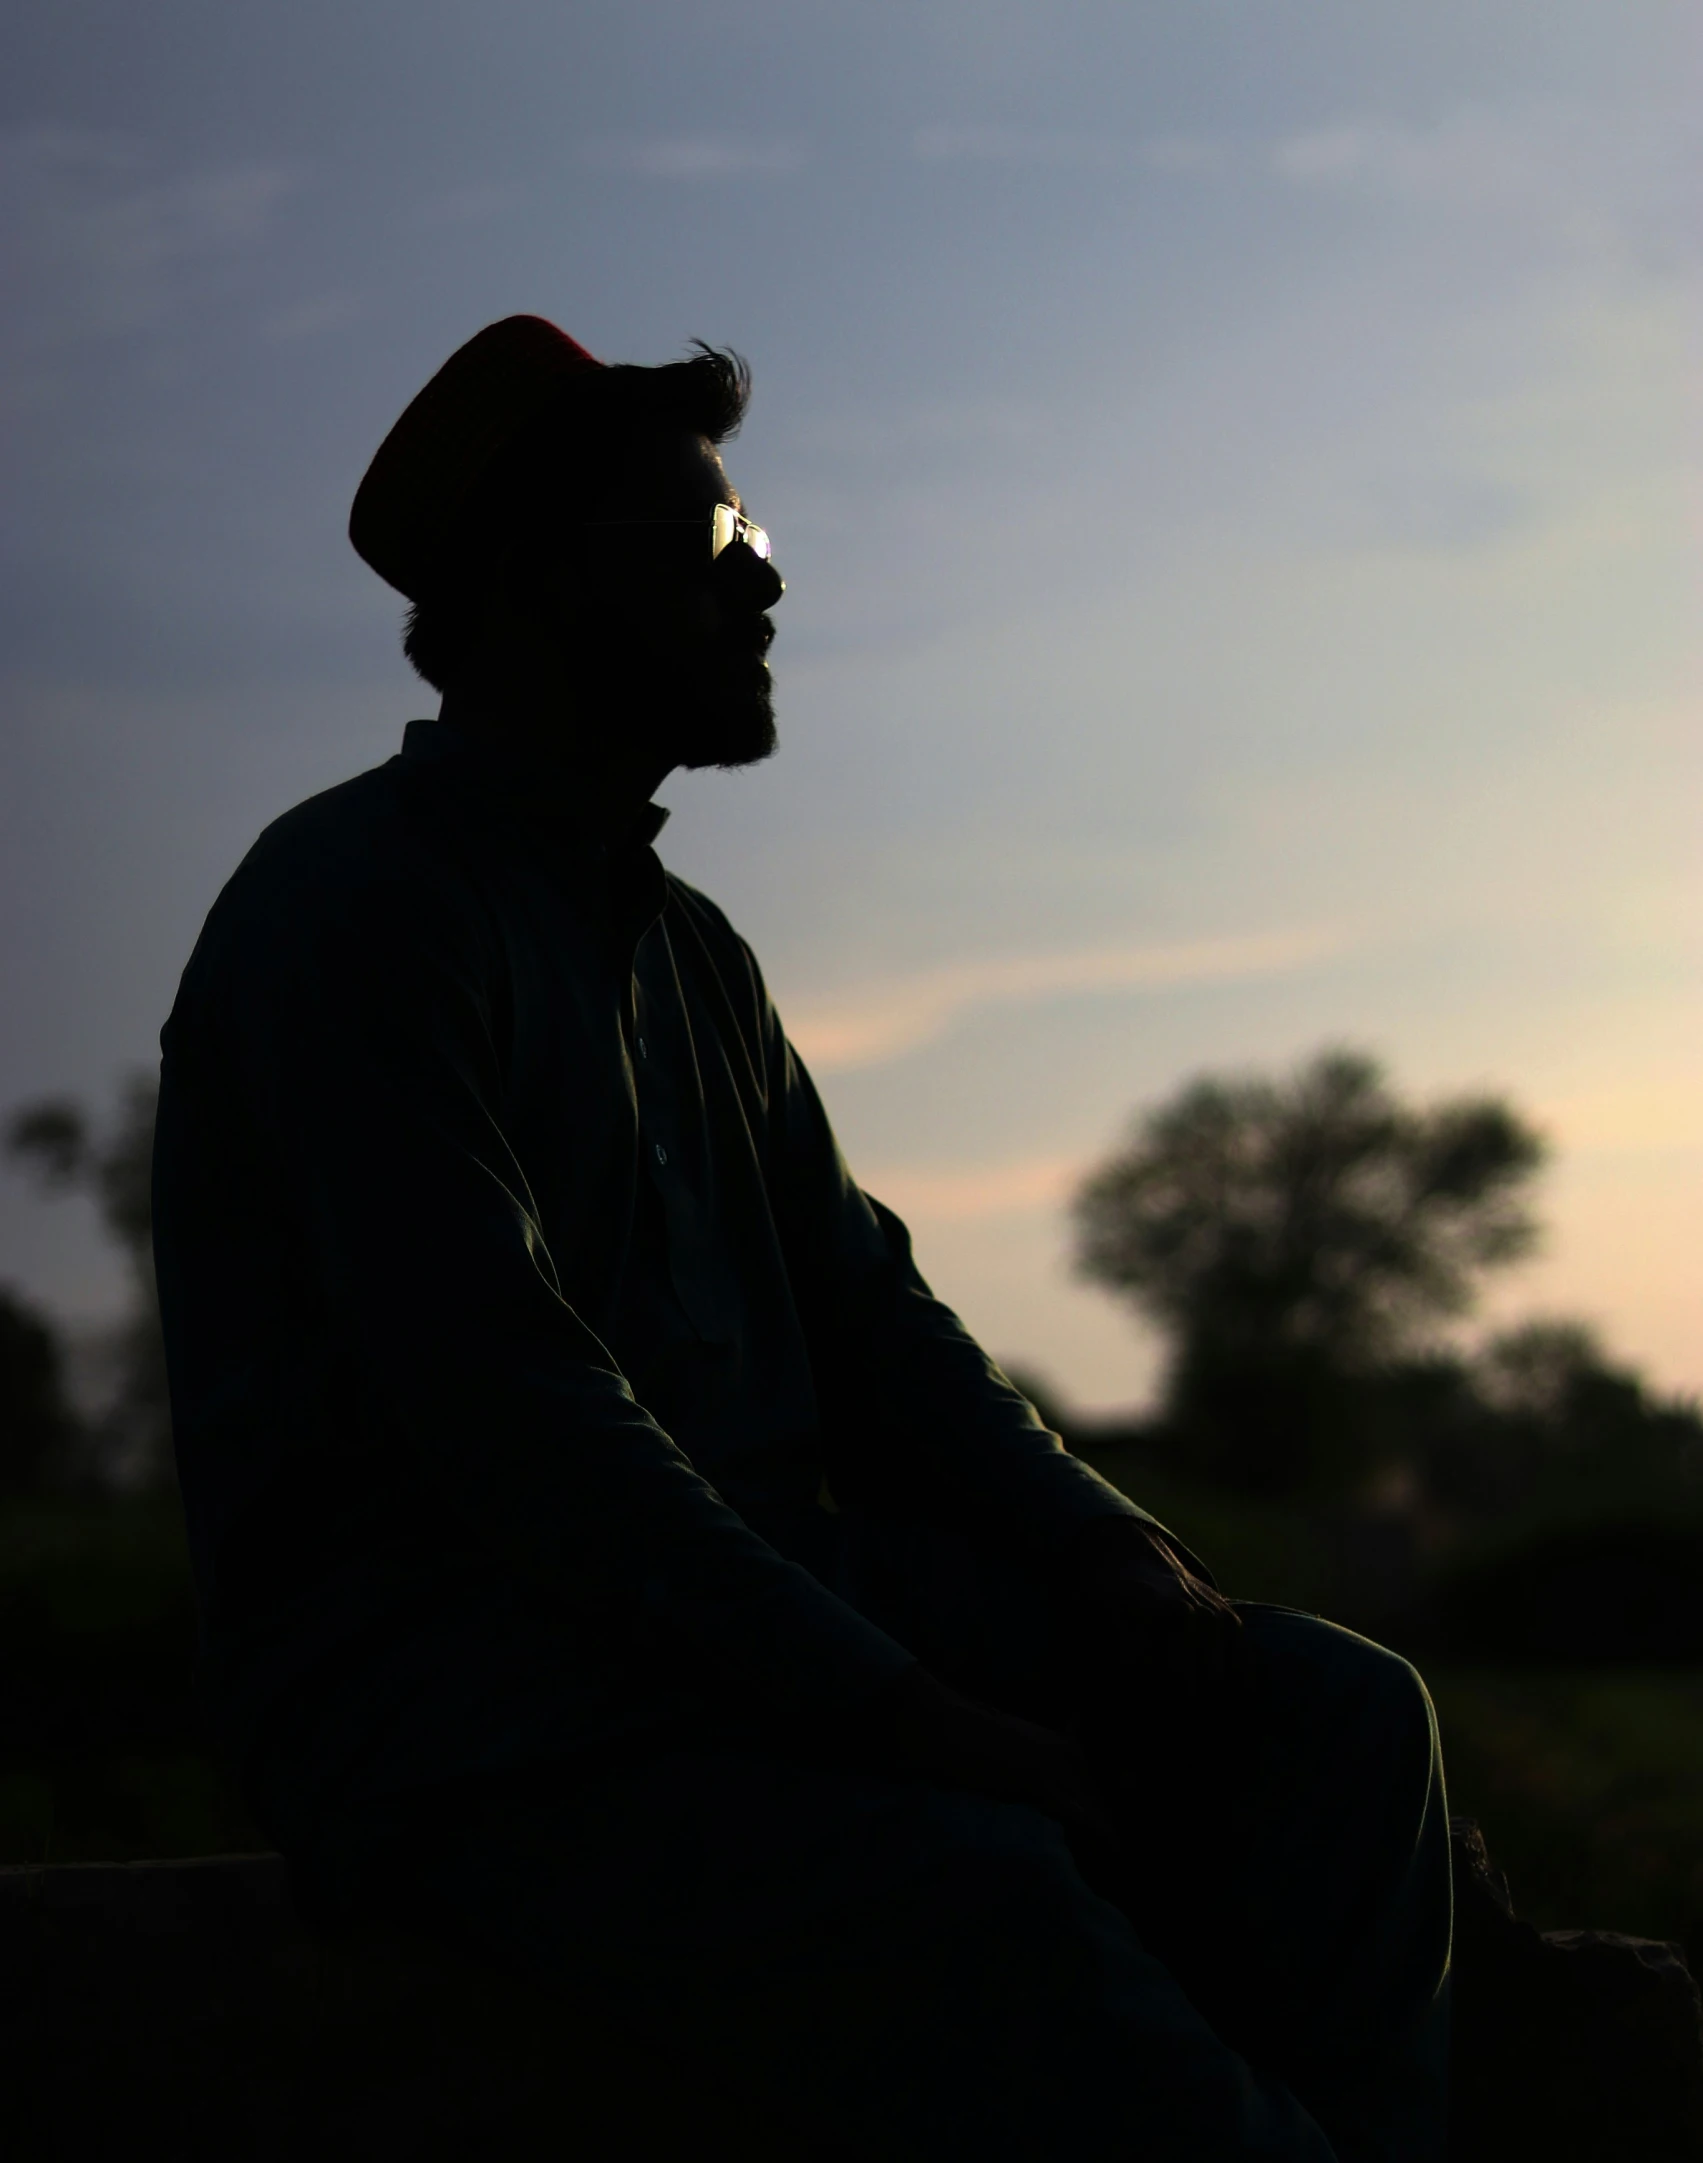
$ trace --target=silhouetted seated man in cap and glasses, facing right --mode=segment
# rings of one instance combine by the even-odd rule
[[[441,714],[262,835],[162,1038],[219,1717],[327,1906],[801,2152],[1437,2159],[1424,1687],[1062,1451],[654,852],[775,746],[744,398],[511,318],[361,482]]]

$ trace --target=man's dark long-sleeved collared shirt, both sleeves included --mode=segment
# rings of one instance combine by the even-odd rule
[[[268,826],[162,1032],[156,1255],[212,1709],[273,1828],[911,1655],[818,1499],[1056,1564],[1140,1516],[846,1172],[755,958],[441,722]],[[775,1518],[779,1521],[779,1518]]]

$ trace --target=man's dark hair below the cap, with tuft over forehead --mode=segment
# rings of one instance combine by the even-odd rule
[[[751,404],[751,366],[731,346],[690,342],[684,361],[638,368],[617,361],[576,376],[550,415],[504,446],[463,517],[461,567],[446,584],[409,608],[402,653],[433,690],[448,690],[470,649],[478,614],[476,562],[491,562],[493,541],[537,543],[552,519],[550,493],[571,474],[619,465],[621,452],[649,428],[690,428],[712,443],[740,433]]]

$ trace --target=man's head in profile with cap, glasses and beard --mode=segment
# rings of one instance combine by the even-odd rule
[[[496,443],[457,461],[463,415],[450,407],[431,428],[411,415],[446,402],[465,355],[487,359],[485,381],[450,389]],[[515,357],[524,396],[502,374]],[[591,759],[643,753],[658,770],[775,748],[764,655],[783,586],[725,515],[712,536],[716,506],[740,508],[716,446],[747,398],[738,355],[699,346],[664,368],[602,368],[534,318],[493,324],[448,363],[392,430],[351,521],[368,562],[413,601],[405,651],[446,707],[502,714]],[[452,469],[454,502],[431,532],[431,519],[383,515],[396,493],[383,461],[413,480],[422,459]]]

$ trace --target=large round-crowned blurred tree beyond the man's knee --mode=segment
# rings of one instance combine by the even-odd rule
[[[1365,1384],[1532,1246],[1543,1155],[1506,1103],[1404,1105],[1355,1051],[1203,1077],[1082,1185],[1078,1268],[1169,1335],[1169,1415],[1201,1469],[1344,1486]]]

